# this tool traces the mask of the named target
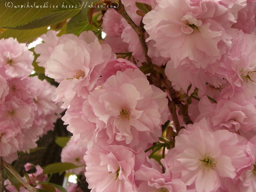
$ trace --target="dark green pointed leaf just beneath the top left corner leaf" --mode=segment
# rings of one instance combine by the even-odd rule
[[[69,0],[70,1],[70,0]],[[69,2],[68,0],[65,0],[63,3],[64,5],[70,5],[70,7],[73,8],[62,8],[62,4],[60,4],[59,8],[53,10],[52,12],[49,12],[44,17],[34,20],[26,25],[18,26],[15,29],[32,29],[32,28],[38,28],[38,27],[44,27],[49,26],[53,24],[60,23],[62,21],[67,20],[68,18],[73,17],[77,13],[81,11],[81,8],[79,8],[79,3],[77,0],[72,0]]]

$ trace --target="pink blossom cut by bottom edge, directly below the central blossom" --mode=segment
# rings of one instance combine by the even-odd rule
[[[135,192],[134,172],[143,164],[141,159],[145,159],[144,151],[136,153],[122,145],[89,149],[84,156],[88,188],[92,192]]]

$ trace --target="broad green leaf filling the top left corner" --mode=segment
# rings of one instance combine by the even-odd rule
[[[0,1],[0,28],[17,27],[42,18],[47,13],[53,11],[56,5],[59,5],[62,1],[63,0]],[[38,6],[38,8],[34,5]],[[40,6],[42,6],[42,8],[40,8]]]

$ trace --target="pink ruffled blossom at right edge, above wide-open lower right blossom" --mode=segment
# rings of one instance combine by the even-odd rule
[[[244,93],[229,100],[220,99],[217,104],[211,104],[204,96],[199,102],[201,114],[196,121],[202,117],[210,117],[214,129],[228,129],[247,138],[246,132],[256,131],[255,104],[254,97]]]

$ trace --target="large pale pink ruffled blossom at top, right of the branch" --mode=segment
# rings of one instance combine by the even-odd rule
[[[161,56],[170,57],[175,67],[189,58],[197,68],[206,68],[230,47],[235,18],[224,6],[213,1],[157,3],[143,18],[147,41],[155,40]]]

